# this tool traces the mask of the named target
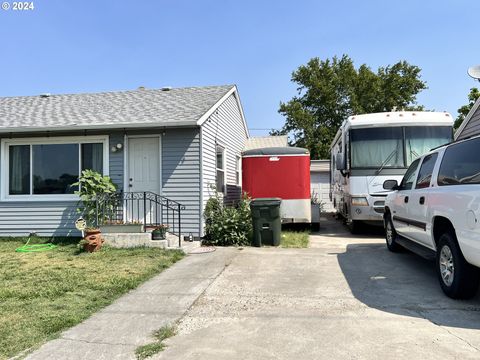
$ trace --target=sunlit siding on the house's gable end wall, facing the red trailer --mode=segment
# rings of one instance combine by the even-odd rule
[[[236,157],[241,156],[247,134],[235,96],[230,95],[202,126],[202,214],[215,191],[211,186],[216,184],[217,143],[226,149],[225,202],[232,203],[241,196],[241,186],[236,183]]]

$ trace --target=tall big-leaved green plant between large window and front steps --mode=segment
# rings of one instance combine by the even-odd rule
[[[75,194],[80,196],[80,204],[77,207],[77,212],[87,221],[88,226],[97,226],[97,220],[103,221],[105,219],[97,219],[97,204],[96,200],[103,194],[114,193],[117,188],[109,176],[104,176],[93,170],[83,170],[78,181],[72,186],[78,186],[79,190]],[[113,211],[114,204],[109,203]],[[108,210],[108,209],[107,209]],[[102,212],[106,216],[107,212]]]

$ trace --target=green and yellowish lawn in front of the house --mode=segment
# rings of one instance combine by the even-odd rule
[[[0,359],[37,347],[80,323],[183,257],[154,248],[17,253],[25,242],[0,239]]]

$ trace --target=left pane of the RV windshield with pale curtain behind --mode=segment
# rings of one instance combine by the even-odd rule
[[[352,168],[404,167],[401,127],[352,129]]]

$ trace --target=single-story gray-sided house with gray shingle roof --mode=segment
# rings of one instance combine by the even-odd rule
[[[87,168],[139,194],[137,212],[147,193],[178,203],[181,233],[202,236],[207,200],[241,194],[248,137],[234,85],[0,98],[0,236],[78,235],[71,184]]]

